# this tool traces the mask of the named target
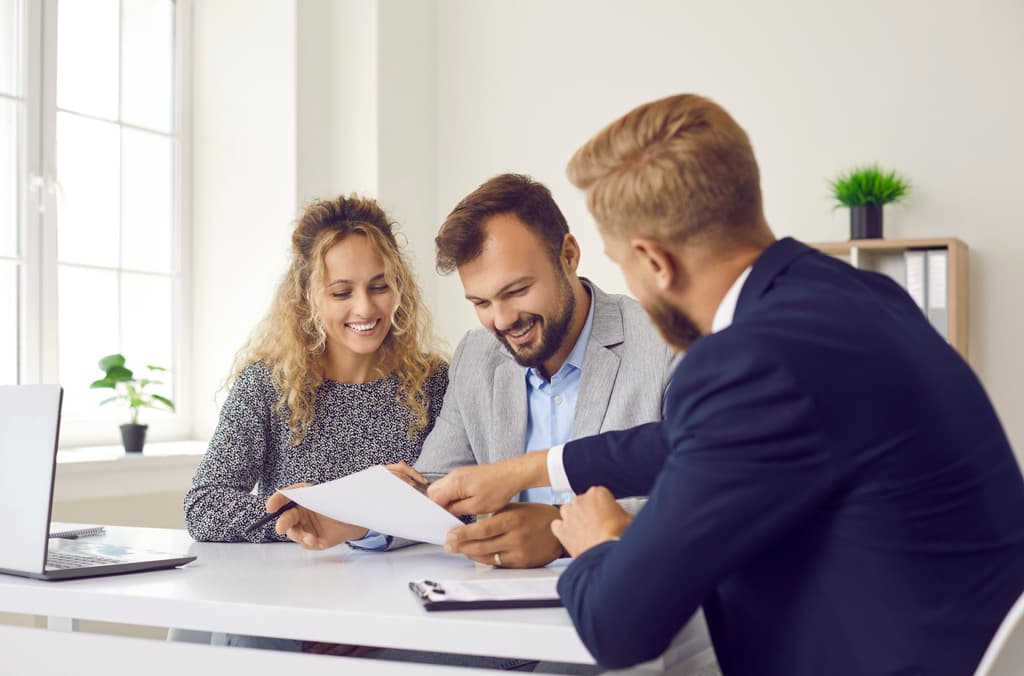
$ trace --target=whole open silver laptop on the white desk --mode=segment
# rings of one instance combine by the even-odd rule
[[[0,573],[38,580],[73,580],[173,568],[187,554],[153,552],[99,542],[49,538],[53,476],[60,429],[60,385],[0,385]]]

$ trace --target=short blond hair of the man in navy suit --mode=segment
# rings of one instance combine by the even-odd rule
[[[613,235],[735,239],[764,222],[746,133],[694,94],[627,113],[577,151],[567,173],[598,225]]]

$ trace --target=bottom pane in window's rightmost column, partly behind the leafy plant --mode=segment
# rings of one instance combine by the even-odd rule
[[[171,285],[168,277],[131,272],[121,276],[121,347],[128,368],[136,376],[148,373],[145,367],[150,364],[165,369],[174,367]],[[173,374],[154,375],[164,384],[147,391],[173,400]],[[155,412],[143,412],[143,422],[152,421],[154,416]]]

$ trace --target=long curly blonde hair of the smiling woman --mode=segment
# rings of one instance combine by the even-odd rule
[[[264,363],[280,392],[274,412],[288,421],[295,445],[309,429],[316,388],[324,382],[327,331],[318,296],[324,292],[325,256],[353,235],[366,237],[384,260],[384,279],[394,292],[391,329],[380,347],[378,375],[397,376],[395,398],[414,417],[410,436],[427,425],[425,384],[443,357],[394,227],[376,201],[356,195],[312,203],[295,226],[288,272],[266,316],[239,350],[228,378],[230,384],[247,367]]]

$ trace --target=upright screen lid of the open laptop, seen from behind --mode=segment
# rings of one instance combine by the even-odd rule
[[[46,565],[62,398],[60,385],[0,385],[0,568]]]

